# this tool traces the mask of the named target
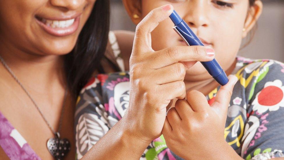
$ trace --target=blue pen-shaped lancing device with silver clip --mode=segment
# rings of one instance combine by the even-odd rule
[[[203,43],[199,40],[199,38],[191,31],[189,26],[187,25],[182,18],[175,12],[170,15],[171,20],[175,24],[173,29],[177,32],[177,34],[183,39],[183,41],[189,45],[203,45]],[[203,45],[204,46],[204,45]],[[206,68],[210,75],[220,84],[226,85],[228,83],[228,77],[226,73],[223,71],[219,63],[214,58],[212,61],[201,62],[201,64]]]

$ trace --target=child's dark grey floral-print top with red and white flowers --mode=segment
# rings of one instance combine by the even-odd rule
[[[284,64],[237,57],[232,74],[238,82],[228,107],[225,140],[244,159],[284,157]],[[129,105],[129,87],[129,73],[120,72],[99,74],[81,90],[75,112],[78,159],[123,117]],[[219,89],[206,96],[209,104]],[[168,149],[161,135],[141,159],[181,158]]]

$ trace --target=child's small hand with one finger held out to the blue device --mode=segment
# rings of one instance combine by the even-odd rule
[[[187,100],[177,100],[162,130],[170,150],[184,159],[222,159],[226,157],[223,154],[239,157],[224,139],[227,109],[236,82],[237,78],[230,76],[211,106],[196,90],[187,94]]]

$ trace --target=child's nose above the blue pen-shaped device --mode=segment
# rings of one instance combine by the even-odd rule
[[[189,24],[189,27],[199,28],[208,26],[208,11],[206,4],[202,1],[193,1],[188,5],[187,14],[184,16],[184,21]]]

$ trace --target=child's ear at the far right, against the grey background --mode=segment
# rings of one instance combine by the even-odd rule
[[[259,16],[262,13],[262,2],[260,0],[256,0],[255,4],[248,9],[248,14],[246,16],[246,21],[244,23],[243,35],[245,38],[249,31],[255,26]]]

